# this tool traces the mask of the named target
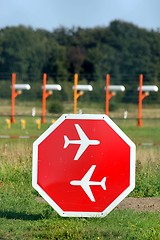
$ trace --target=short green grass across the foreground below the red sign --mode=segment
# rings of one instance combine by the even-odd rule
[[[6,214],[0,219],[1,239],[122,239],[158,240],[158,213],[135,213],[130,210],[113,211],[103,219],[61,219],[54,212],[46,218],[43,215],[24,213]]]

